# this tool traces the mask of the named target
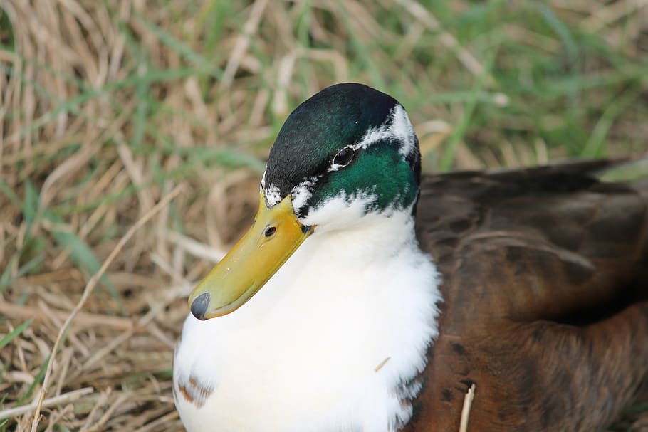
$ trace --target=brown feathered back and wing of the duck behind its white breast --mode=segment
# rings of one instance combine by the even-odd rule
[[[599,431],[648,378],[648,187],[606,162],[427,177],[439,338],[404,431]]]

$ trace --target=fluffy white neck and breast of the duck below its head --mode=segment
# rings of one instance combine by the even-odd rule
[[[438,284],[409,211],[316,229],[239,310],[187,317],[174,385],[207,389],[199,409],[177,395],[187,431],[396,431],[437,336]]]

